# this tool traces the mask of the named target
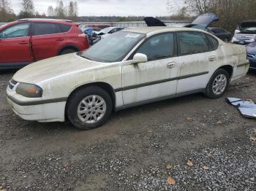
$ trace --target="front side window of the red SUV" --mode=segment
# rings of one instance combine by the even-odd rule
[[[29,36],[29,23],[10,26],[0,32],[0,39],[12,39]]]

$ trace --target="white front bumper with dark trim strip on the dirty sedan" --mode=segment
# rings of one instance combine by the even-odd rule
[[[31,101],[10,90],[7,87],[7,101],[12,107],[13,112],[18,114],[23,120],[38,122],[64,122],[66,101],[56,100],[56,102],[45,102],[43,100]],[[42,104],[40,104],[42,103]]]

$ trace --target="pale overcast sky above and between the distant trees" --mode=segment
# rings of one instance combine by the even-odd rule
[[[10,0],[15,13],[20,12],[21,0]],[[47,14],[48,6],[56,7],[58,0],[34,0],[35,10]],[[63,0],[68,4],[69,0]],[[173,0],[179,1],[182,0]],[[167,0],[77,0],[79,16],[167,16]]]

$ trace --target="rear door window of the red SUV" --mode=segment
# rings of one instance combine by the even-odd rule
[[[59,34],[61,33],[61,28],[59,24],[56,23],[34,23],[33,35],[45,35],[45,34]]]

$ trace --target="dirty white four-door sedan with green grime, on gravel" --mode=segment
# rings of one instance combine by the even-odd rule
[[[18,71],[7,100],[24,120],[97,128],[113,111],[202,92],[219,98],[249,69],[246,49],[192,28],[127,28],[84,52]]]

